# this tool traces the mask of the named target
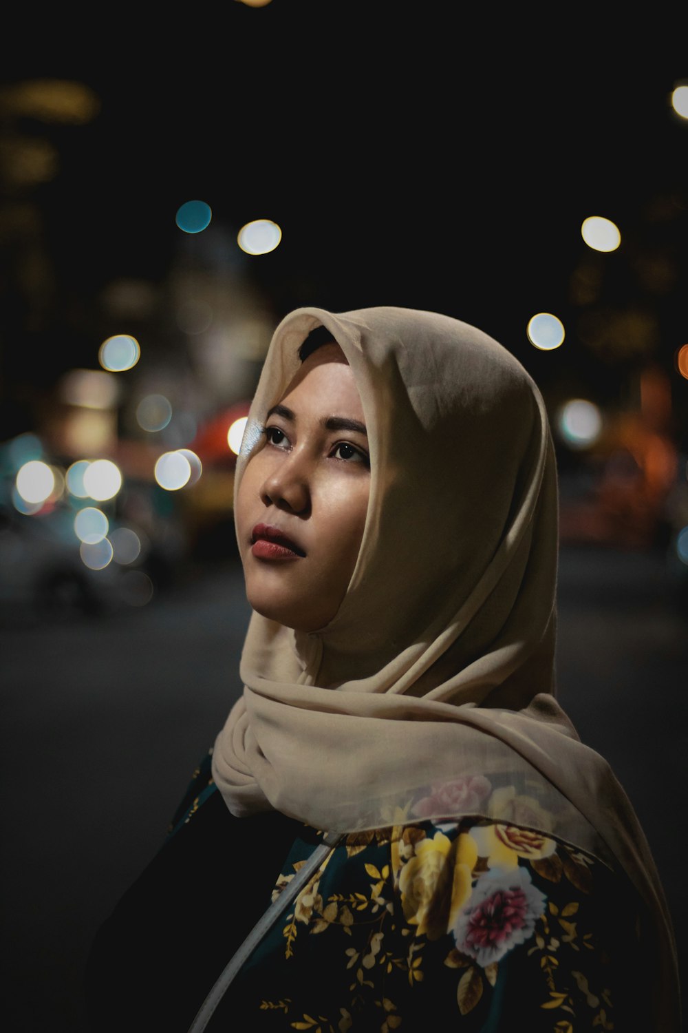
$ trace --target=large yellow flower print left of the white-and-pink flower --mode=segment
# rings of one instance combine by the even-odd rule
[[[443,833],[416,844],[416,854],[399,876],[401,904],[406,921],[418,926],[419,935],[436,940],[470,896],[472,869],[478,860],[476,844],[467,834],[454,843]]]

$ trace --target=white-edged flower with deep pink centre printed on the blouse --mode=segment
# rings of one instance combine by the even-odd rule
[[[500,961],[530,939],[546,901],[523,868],[483,876],[452,930],[458,949],[482,968]]]

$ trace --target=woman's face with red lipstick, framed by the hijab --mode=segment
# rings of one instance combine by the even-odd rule
[[[354,375],[339,346],[326,344],[268,413],[239,486],[237,536],[255,611],[298,631],[334,617],[356,565],[369,483]]]

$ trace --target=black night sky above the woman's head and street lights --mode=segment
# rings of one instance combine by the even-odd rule
[[[243,262],[275,323],[300,305],[433,309],[492,334],[544,388],[618,402],[648,362],[676,381],[688,122],[668,101],[688,82],[683,23],[679,5],[635,21],[577,7],[550,23],[232,0],[146,27],[118,8],[86,37],[57,15],[39,40],[27,27],[15,48],[5,40],[4,83],[75,81],[99,112],[81,125],[5,113],[6,138],[59,155],[45,182],[5,177],[4,211],[38,213],[52,270],[44,299],[25,295],[23,245],[4,234],[5,436],[18,392],[89,365],[108,332],[97,311],[108,282],[165,283],[182,246],[174,214],[193,198],[212,209],[221,263]],[[619,225],[618,252],[586,247],[588,215]],[[277,222],[283,242],[245,259],[236,232],[254,218]],[[581,276],[597,279],[592,301],[577,294]],[[595,340],[628,310],[650,314],[647,346]],[[564,322],[556,354],[527,341],[538,311]],[[674,389],[685,404],[685,381]]]

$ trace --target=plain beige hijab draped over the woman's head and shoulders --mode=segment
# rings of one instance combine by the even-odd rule
[[[361,397],[367,520],[326,627],[252,616],[243,694],[214,750],[227,806],[351,832],[476,814],[586,849],[648,905],[674,1029],[676,957],[650,849],[555,700],[557,480],[537,387],[505,348],[448,316],[298,309],[272,338],[235,493],[319,325]]]

